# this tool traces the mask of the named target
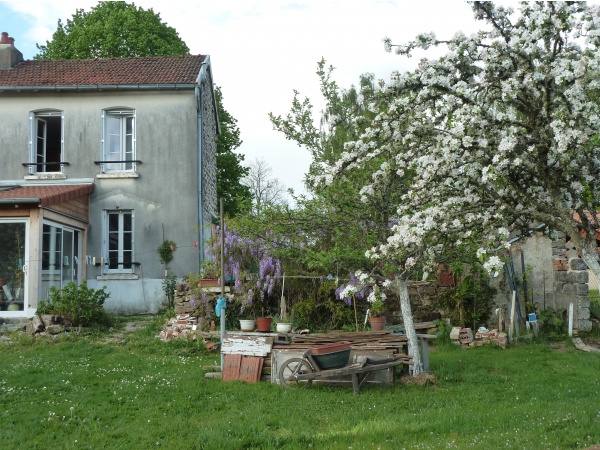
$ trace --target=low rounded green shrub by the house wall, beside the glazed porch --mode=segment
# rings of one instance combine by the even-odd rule
[[[71,282],[62,289],[51,286],[48,298],[40,301],[37,311],[64,317],[73,325],[110,325],[111,317],[104,310],[108,297],[106,286],[91,289],[85,281],[79,286]]]

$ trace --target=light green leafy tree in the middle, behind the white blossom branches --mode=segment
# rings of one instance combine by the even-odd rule
[[[323,167],[339,161],[344,144],[359,139],[375,116],[369,105],[380,101],[381,84],[372,74],[362,75],[357,87],[341,89],[332,79],[333,71],[325,60],[319,61],[317,76],[325,108],[318,128],[311,101],[301,100],[297,91],[285,117],[270,115],[273,127],[308,150],[313,161],[307,175],[307,188],[312,195],[296,198],[293,211],[278,209],[279,216],[268,222],[285,220],[282,225],[292,230],[294,240],[304,239],[306,245],[296,252],[306,268],[346,276],[349,271],[368,266],[364,249],[385,241],[395,212],[393,200],[399,198],[403,185],[398,177],[388,174],[370,201],[361,202],[362,193],[357,186],[370,180],[389,157],[382,154],[366,162],[363,170],[336,178],[328,185],[312,187],[312,179],[323,174]]]

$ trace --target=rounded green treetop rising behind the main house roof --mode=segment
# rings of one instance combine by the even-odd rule
[[[190,51],[160,14],[126,2],[99,2],[89,12],[77,9],[66,25],[59,19],[52,40],[37,48],[36,59],[176,56]]]

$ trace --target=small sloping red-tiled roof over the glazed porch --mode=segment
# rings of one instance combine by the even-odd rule
[[[29,203],[52,206],[94,192],[93,184],[52,186],[0,186],[0,204]]]

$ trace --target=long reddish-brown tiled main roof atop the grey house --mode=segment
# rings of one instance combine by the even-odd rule
[[[0,70],[2,87],[195,85],[206,55],[27,60]]]

